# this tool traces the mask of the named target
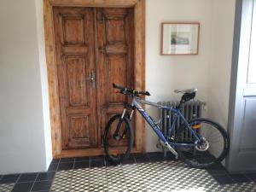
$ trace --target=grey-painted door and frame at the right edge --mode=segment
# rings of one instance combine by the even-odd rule
[[[236,1],[230,85],[230,172],[256,170],[256,0]]]

